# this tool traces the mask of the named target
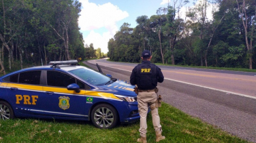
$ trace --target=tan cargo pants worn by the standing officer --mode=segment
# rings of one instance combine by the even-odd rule
[[[157,100],[157,94],[155,91],[139,92],[137,100],[140,113],[140,136],[146,137],[146,128],[148,127],[146,125],[146,115],[148,114],[148,106],[151,104],[151,108],[154,108],[155,101]],[[155,131],[162,131],[160,125],[160,117],[158,115],[158,108],[151,110],[151,115],[153,118]]]

